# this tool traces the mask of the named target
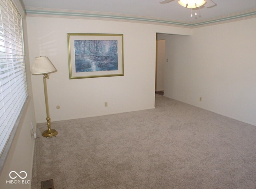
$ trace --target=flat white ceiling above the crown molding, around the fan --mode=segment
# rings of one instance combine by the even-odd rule
[[[197,10],[197,16],[194,15],[195,10],[192,10],[193,17],[190,17],[191,10],[180,6],[178,0],[167,4],[160,4],[160,1],[162,0],[23,0],[26,10],[36,8],[96,12],[191,24],[245,12],[254,12],[256,15],[256,0],[213,0],[217,6],[202,6]]]

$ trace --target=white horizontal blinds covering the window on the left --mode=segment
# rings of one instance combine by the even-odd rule
[[[0,154],[27,97],[22,21],[11,0],[0,0]]]

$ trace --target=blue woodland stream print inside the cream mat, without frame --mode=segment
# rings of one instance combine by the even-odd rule
[[[75,40],[76,72],[118,70],[117,40]]]

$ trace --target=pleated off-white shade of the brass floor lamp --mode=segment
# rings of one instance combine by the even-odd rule
[[[56,71],[57,69],[54,67],[52,62],[46,56],[36,57],[34,64],[30,69],[30,73],[33,75],[53,73]]]

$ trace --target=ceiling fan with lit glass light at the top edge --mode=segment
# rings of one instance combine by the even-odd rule
[[[163,0],[160,3],[170,3],[174,0]],[[200,2],[199,4],[196,4],[196,2]],[[217,6],[217,4],[215,2],[213,2],[212,0],[194,0],[194,2],[192,3],[191,0],[179,0],[178,3],[181,6],[184,6],[186,8],[196,8],[196,7],[200,7],[202,5],[204,5],[206,8],[212,8],[214,6]]]

